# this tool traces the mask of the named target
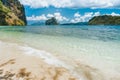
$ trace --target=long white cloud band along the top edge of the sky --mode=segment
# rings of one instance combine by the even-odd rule
[[[69,8],[108,8],[120,7],[120,0],[20,0],[22,4],[32,8],[54,6]]]

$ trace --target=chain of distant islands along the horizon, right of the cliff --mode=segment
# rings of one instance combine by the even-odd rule
[[[95,16],[88,22],[77,22],[77,23],[59,23],[55,17],[52,17],[45,22],[35,22],[31,26],[39,25],[120,25],[120,16],[112,15],[101,15]]]

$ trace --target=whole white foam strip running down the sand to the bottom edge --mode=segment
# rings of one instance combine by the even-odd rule
[[[49,52],[46,52],[44,50],[38,50],[38,49],[29,47],[29,46],[22,46],[21,49],[25,52],[25,54],[30,55],[30,56],[38,56],[42,58],[48,64],[54,65],[56,67],[63,67],[63,68],[68,69],[71,72],[71,74],[73,74],[74,76],[78,78],[78,80],[81,80],[82,78],[76,71],[74,71],[74,66],[69,65],[62,60],[59,60],[57,57],[53,56]]]

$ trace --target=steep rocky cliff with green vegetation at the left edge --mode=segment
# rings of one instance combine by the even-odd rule
[[[0,0],[0,25],[26,25],[25,10],[18,0]]]

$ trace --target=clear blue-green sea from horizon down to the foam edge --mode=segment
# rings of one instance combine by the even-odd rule
[[[49,52],[74,68],[82,63],[120,76],[120,26],[1,26],[0,40]]]

